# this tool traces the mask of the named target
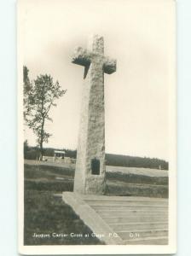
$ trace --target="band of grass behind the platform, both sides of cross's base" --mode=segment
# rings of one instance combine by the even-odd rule
[[[47,165],[25,166],[27,169],[25,178],[28,188],[57,192],[72,191],[74,167]],[[56,177],[61,179],[57,180]],[[168,197],[168,177],[150,177],[135,173],[107,172],[107,195]]]

